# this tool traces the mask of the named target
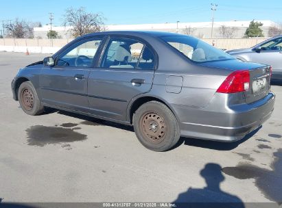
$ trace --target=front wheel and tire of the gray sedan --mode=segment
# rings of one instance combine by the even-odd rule
[[[18,91],[18,100],[21,109],[26,114],[36,116],[44,112],[44,107],[40,103],[36,90],[30,81],[21,83]]]

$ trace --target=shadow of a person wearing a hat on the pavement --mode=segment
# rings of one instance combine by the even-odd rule
[[[244,208],[242,200],[232,194],[220,190],[220,183],[224,181],[221,171],[222,167],[218,164],[206,164],[200,171],[207,186],[202,189],[189,187],[187,192],[178,195],[173,202],[177,207],[236,207]]]

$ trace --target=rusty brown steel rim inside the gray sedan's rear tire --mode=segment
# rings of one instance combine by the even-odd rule
[[[155,112],[144,114],[139,125],[140,129],[143,131],[143,135],[145,135],[146,139],[150,142],[158,143],[165,137],[167,131],[165,120]]]

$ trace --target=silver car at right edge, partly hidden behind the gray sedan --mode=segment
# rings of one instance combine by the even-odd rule
[[[226,51],[243,62],[257,62],[272,66],[272,79],[282,80],[282,35],[265,40],[249,49]]]

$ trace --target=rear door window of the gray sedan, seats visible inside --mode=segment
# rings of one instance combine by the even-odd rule
[[[138,40],[112,38],[108,43],[100,67],[154,69],[154,53]]]

